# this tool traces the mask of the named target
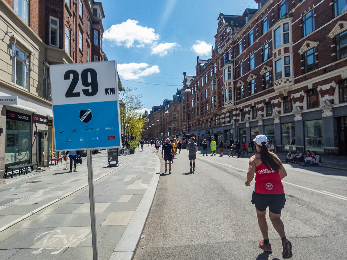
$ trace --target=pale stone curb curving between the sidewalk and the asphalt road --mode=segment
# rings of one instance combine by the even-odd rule
[[[158,187],[160,176],[158,173],[160,173],[160,159],[156,155],[156,165],[151,182],[109,260],[133,260]]]

